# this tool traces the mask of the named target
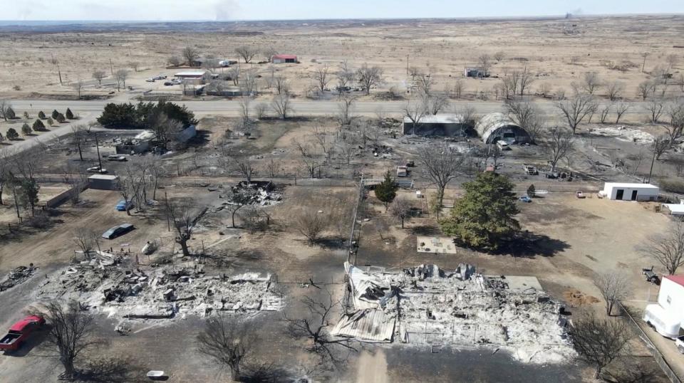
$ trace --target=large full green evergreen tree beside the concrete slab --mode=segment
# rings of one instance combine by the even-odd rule
[[[442,231],[474,248],[496,250],[502,240],[520,230],[514,184],[502,175],[483,172],[463,184],[465,195],[458,199],[450,216],[440,222]]]

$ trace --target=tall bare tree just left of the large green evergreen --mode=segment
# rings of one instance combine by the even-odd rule
[[[420,148],[418,158],[423,164],[425,176],[437,187],[441,206],[445,189],[449,182],[460,173],[465,156],[450,149],[447,143],[441,143]]]

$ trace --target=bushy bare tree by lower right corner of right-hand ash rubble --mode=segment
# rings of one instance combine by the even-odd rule
[[[598,318],[589,313],[575,320],[569,329],[572,344],[579,357],[596,366],[594,378],[618,357],[633,335],[621,318]]]

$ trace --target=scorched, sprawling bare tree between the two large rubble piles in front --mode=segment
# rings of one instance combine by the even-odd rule
[[[307,337],[311,340],[311,345],[306,347],[311,352],[321,355],[321,357],[329,357],[335,361],[335,347],[341,346],[348,350],[356,351],[354,347],[349,345],[346,339],[336,339],[330,335],[328,326],[330,325],[330,316],[333,309],[340,303],[333,300],[333,295],[328,290],[323,290],[326,293],[325,298],[314,300],[311,297],[304,297],[301,303],[304,304],[305,310],[300,310],[300,317],[304,318],[289,318],[286,313],[283,314],[288,323],[289,334],[292,337]]]

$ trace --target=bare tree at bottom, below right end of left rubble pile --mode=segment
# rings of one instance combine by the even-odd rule
[[[257,336],[252,326],[219,314],[204,322],[204,329],[197,335],[197,351],[227,369],[231,380],[239,382],[255,342]]]

